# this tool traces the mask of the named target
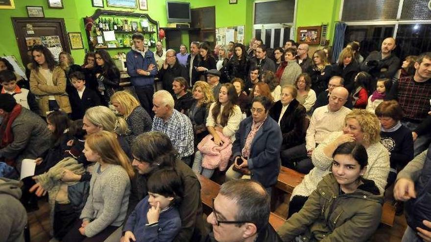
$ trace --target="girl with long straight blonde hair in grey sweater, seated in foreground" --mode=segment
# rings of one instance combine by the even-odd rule
[[[103,241],[123,223],[133,168],[112,132],[90,134],[84,145],[88,161],[96,162],[84,209],[63,242]],[[89,239],[91,238],[91,239]]]

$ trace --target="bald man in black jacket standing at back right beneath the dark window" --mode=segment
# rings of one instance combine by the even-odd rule
[[[394,38],[386,38],[380,51],[373,51],[360,65],[360,70],[370,73],[375,80],[371,83],[371,91],[376,89],[377,78],[392,78],[400,67],[400,59],[393,50],[396,47]]]

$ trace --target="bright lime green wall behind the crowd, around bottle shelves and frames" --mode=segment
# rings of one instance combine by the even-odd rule
[[[216,27],[228,27],[245,25],[245,42],[252,37],[253,29],[253,4],[254,0],[238,0],[238,4],[229,4],[229,0],[177,0],[188,1],[192,8],[216,6]],[[0,55],[15,55],[21,59],[15,33],[12,27],[11,17],[27,17],[26,5],[42,6],[46,18],[64,18],[67,32],[82,33],[84,47],[88,48],[86,33],[84,29],[83,17],[91,16],[97,8],[91,5],[91,0],[63,0],[63,9],[48,8],[47,0],[15,0],[15,9],[0,9]],[[298,0],[296,26],[311,26],[329,23],[328,38],[332,39],[335,21],[338,20],[338,13],[341,0]],[[128,11],[125,8],[107,7],[111,10]],[[134,10],[138,13],[147,13],[159,22],[160,27],[167,26],[166,0],[148,0],[149,11]],[[187,32],[182,34],[184,44],[189,43]],[[125,49],[127,50],[127,49]],[[118,50],[110,50],[111,54]],[[84,59],[84,50],[72,50],[72,56],[77,64],[81,64]]]

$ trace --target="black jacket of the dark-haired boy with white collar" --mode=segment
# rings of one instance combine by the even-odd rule
[[[93,89],[87,87],[85,87],[84,93],[82,93],[82,99],[79,98],[78,90],[74,89],[71,91],[69,94],[69,102],[72,106],[72,120],[83,118],[87,109],[101,105],[97,93]]]

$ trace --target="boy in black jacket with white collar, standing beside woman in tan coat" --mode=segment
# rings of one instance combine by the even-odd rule
[[[69,102],[72,106],[71,118],[72,120],[82,119],[87,109],[100,105],[100,98],[94,90],[85,88],[85,75],[81,71],[72,72],[69,79],[75,88],[69,94]]]

